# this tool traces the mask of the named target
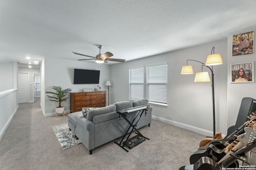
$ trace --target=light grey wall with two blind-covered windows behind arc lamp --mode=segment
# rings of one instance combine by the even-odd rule
[[[227,106],[227,39],[205,45],[181,49],[144,59],[114,64],[111,66],[111,101],[128,100],[129,68],[152,64],[168,63],[168,107],[154,106],[153,118],[196,131],[204,135],[213,133],[212,87],[211,82],[194,83],[196,72],[201,72],[201,64],[189,61],[193,66],[193,75],[180,74],[187,59],[205,63],[212,47],[215,53],[222,55],[222,65],[214,66],[216,132],[226,134]],[[203,71],[210,69],[204,67]]]

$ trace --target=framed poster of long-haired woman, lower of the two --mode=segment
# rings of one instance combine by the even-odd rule
[[[254,62],[230,64],[231,83],[254,82]]]

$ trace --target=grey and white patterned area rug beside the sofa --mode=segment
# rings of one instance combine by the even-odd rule
[[[69,131],[68,123],[52,126],[52,130],[54,131],[63,150],[74,147],[81,143],[79,139],[76,140],[76,137],[72,131]]]

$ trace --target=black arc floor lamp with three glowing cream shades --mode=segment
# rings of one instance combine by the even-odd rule
[[[214,74],[213,74],[213,67],[210,68],[210,66],[213,65],[219,65],[222,64],[222,58],[220,54],[214,54],[214,47],[212,48],[213,54],[211,52],[211,55],[208,55],[206,59],[206,63],[202,63],[200,61],[196,60],[187,60],[187,65],[182,66],[181,74],[194,74],[192,65],[188,65],[188,61],[196,61],[198,63],[202,64],[203,66],[210,69],[212,73],[212,109],[213,109],[213,136],[215,135],[215,100],[214,100]],[[210,77],[208,72],[197,72],[195,76],[194,82],[210,82]]]

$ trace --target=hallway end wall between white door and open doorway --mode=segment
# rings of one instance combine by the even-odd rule
[[[28,103],[34,103],[34,74],[40,74],[40,68],[19,67],[18,72],[28,73]]]

